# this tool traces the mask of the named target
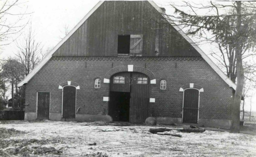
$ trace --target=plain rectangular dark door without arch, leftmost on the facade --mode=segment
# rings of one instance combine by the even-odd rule
[[[49,119],[50,92],[37,92],[37,119]]]

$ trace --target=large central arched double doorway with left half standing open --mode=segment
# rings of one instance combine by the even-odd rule
[[[144,123],[149,110],[150,80],[140,72],[119,72],[110,78],[109,115],[113,121]]]

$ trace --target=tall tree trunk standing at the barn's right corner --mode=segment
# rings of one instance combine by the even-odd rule
[[[240,103],[243,94],[244,87],[244,68],[242,63],[242,43],[241,43],[241,2],[236,1],[237,7],[237,33],[236,33],[236,71],[237,71],[237,85],[236,92],[234,96],[233,104],[233,118],[230,131],[234,133],[239,133],[240,130]]]

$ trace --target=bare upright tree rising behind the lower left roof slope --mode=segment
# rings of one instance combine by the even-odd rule
[[[35,34],[30,24],[28,33],[22,36],[22,40],[16,42],[18,61],[24,66],[24,73],[27,76],[29,72],[42,60],[44,52],[41,42],[36,41]]]

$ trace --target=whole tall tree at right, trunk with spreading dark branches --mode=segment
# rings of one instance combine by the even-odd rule
[[[234,82],[237,78],[237,86],[233,104],[233,119],[231,132],[239,132],[240,121],[240,103],[244,86],[244,67],[243,56],[245,52],[251,52],[247,56],[255,54],[256,45],[256,3],[253,2],[209,2],[204,4],[195,4],[193,2],[183,2],[183,5],[172,5],[178,16],[172,17],[172,25],[179,22],[178,25],[187,29],[187,34],[199,36],[209,32],[204,39],[218,43],[220,50],[226,50],[228,58],[221,56],[223,60],[227,59],[227,74]],[[178,7],[189,8],[189,11],[182,11]],[[204,10],[204,14],[199,15],[198,10]],[[205,12],[205,10],[208,10]],[[251,51],[250,51],[251,50]],[[223,53],[223,52],[222,52]],[[224,54],[224,53],[223,53]],[[224,62],[224,64],[227,62]]]

